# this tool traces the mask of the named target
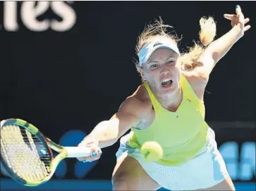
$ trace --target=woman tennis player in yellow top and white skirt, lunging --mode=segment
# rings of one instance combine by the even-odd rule
[[[182,55],[177,38],[161,20],[140,35],[137,69],[142,85],[79,144],[108,147],[131,129],[116,153],[114,190],[235,190],[214,131],[205,122],[203,101],[214,66],[250,29],[240,6],[236,14],[224,17],[232,29],[215,41],[214,20],[201,18],[203,46],[195,44]]]

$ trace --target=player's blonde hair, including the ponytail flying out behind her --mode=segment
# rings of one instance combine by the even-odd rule
[[[135,47],[136,54],[140,52],[141,48],[145,45],[153,41],[154,39],[164,38],[173,41],[176,45],[181,40],[178,38],[177,34],[171,34],[168,32],[169,28],[173,28],[170,25],[165,25],[163,20],[159,18],[159,20],[154,20],[154,23],[147,25],[143,32],[138,37],[138,42]],[[181,54],[181,62],[182,62],[182,69],[185,71],[194,70],[195,67],[199,66],[200,63],[197,62],[200,55],[205,51],[205,48],[214,40],[216,36],[216,22],[214,22],[214,18],[209,17],[205,18],[202,17],[200,19],[200,32],[199,32],[199,39],[200,42],[195,42],[193,47],[188,48],[187,53]],[[136,60],[135,66],[140,74],[141,67]],[[142,81],[145,81],[142,77]]]

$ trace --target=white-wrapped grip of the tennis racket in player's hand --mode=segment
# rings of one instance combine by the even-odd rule
[[[67,158],[96,157],[97,153],[91,152],[89,147],[64,147],[68,152]],[[99,152],[101,152],[99,148]]]

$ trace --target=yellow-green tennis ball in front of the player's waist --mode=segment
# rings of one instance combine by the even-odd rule
[[[148,162],[157,162],[163,156],[161,145],[155,141],[145,142],[140,150]]]

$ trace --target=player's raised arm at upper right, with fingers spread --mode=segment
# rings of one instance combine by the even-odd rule
[[[243,37],[244,32],[250,29],[250,25],[245,26],[250,20],[249,18],[244,18],[240,6],[236,6],[235,15],[224,14],[224,18],[231,20],[232,29],[213,41],[212,44],[209,44],[198,60],[204,65],[199,69],[201,70],[200,73],[205,74],[207,77],[209,77],[217,62],[226,55],[236,41]]]

